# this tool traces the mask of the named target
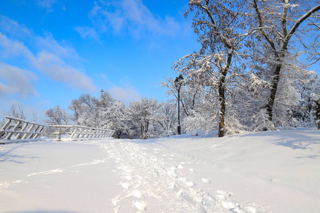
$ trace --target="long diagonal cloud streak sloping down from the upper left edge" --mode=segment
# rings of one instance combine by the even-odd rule
[[[2,17],[1,26],[7,33],[0,38],[2,58],[21,58],[30,70],[38,70],[55,82],[63,82],[76,89],[92,92],[95,86],[90,77],[68,63],[69,60],[79,60],[80,57],[73,48],[60,45],[50,33],[46,36],[34,35],[28,28],[18,25],[9,18]],[[8,26],[14,23],[13,26]],[[12,33],[11,33],[12,32]],[[9,38],[18,32],[25,32],[26,38]],[[32,45],[32,51],[31,48]],[[16,67],[18,69],[18,67]],[[1,82],[1,80],[0,80]]]

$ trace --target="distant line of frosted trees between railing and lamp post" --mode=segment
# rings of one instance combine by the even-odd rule
[[[100,99],[82,94],[71,100],[72,114],[59,106],[46,111],[47,124],[90,126],[116,131],[115,138],[169,136],[176,129],[176,104],[143,98],[126,106],[104,92]]]

